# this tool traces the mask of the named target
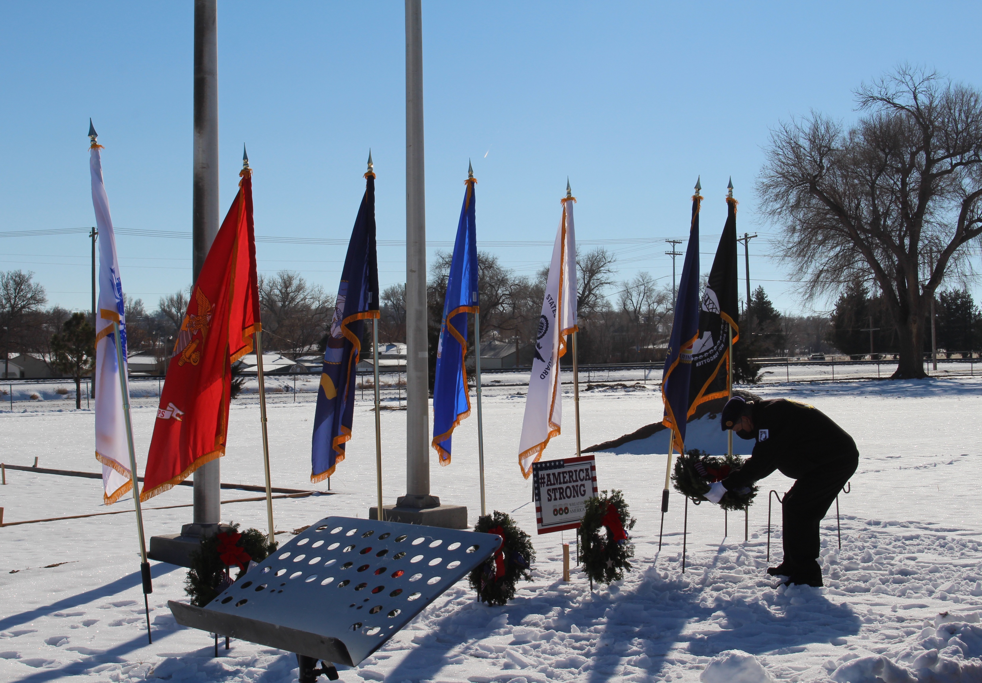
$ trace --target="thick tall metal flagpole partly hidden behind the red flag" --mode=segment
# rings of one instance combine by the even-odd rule
[[[218,206],[218,7],[194,0],[194,138],[191,206],[191,279],[204,265],[220,226]],[[193,298],[193,297],[192,297]],[[193,536],[206,536],[221,519],[221,458],[194,472]]]

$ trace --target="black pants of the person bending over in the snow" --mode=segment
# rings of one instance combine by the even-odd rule
[[[819,524],[858,464],[858,454],[833,460],[798,479],[785,494],[785,562],[791,565],[791,571],[808,573],[818,569]]]

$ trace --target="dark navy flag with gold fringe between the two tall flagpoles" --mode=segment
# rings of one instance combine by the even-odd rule
[[[348,243],[338,285],[338,303],[327,335],[324,367],[313,418],[310,481],[334,473],[345,459],[355,413],[355,368],[364,323],[378,318],[378,259],[375,253],[375,174],[365,174],[365,193]]]

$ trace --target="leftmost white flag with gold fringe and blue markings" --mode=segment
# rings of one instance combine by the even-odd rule
[[[92,208],[99,229],[99,314],[95,320],[95,459],[102,463],[103,500],[116,502],[133,487],[130,479],[130,451],[123,416],[116,335],[113,322],[119,322],[123,362],[126,363],[126,318],[123,313],[123,284],[116,260],[116,237],[109,215],[109,198],[102,184],[99,145],[92,143],[88,166],[92,172]],[[124,368],[126,372],[126,368]]]

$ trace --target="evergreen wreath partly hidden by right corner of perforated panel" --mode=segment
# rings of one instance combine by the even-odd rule
[[[532,540],[507,512],[495,510],[477,518],[474,531],[497,534],[505,541],[487,561],[475,567],[467,580],[482,603],[502,605],[515,598],[518,579],[532,580],[535,550]]]

